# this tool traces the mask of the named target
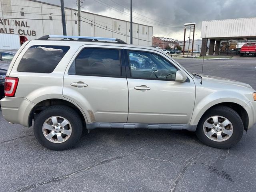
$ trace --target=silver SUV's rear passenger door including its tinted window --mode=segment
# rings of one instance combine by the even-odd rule
[[[64,74],[63,96],[78,104],[88,122],[127,122],[128,87],[122,47],[83,46]]]

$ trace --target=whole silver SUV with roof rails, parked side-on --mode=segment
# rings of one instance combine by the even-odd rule
[[[208,146],[230,148],[256,123],[255,92],[241,82],[202,80],[155,48],[43,36],[14,56],[1,106],[8,122],[34,121],[38,142],[52,150],[76,144],[83,128],[185,129]]]

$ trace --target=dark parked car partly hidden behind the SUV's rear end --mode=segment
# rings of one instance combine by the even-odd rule
[[[16,52],[16,50],[0,50],[0,99],[4,97],[6,72]]]

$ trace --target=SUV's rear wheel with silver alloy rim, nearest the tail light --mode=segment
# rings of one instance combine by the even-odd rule
[[[66,150],[74,146],[82,129],[80,116],[68,106],[49,106],[38,114],[34,122],[36,139],[51,150]]]

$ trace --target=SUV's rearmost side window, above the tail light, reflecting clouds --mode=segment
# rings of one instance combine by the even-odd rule
[[[31,46],[20,60],[17,70],[19,72],[51,73],[69,49],[69,46]]]

